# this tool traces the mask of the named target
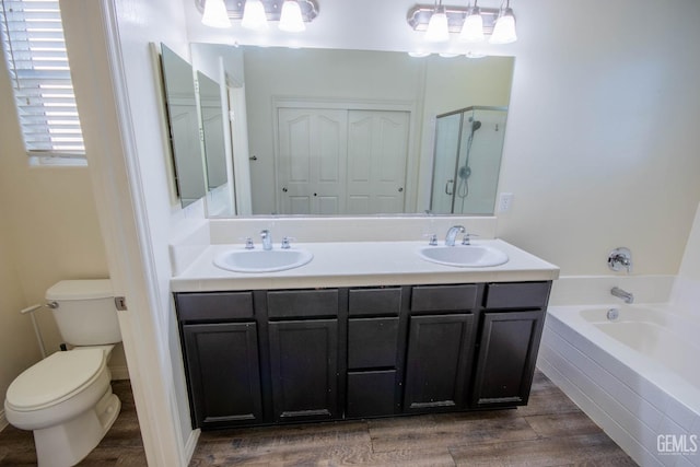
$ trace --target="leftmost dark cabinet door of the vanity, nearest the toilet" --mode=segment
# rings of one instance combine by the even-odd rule
[[[185,325],[183,336],[196,427],[260,423],[255,323]]]

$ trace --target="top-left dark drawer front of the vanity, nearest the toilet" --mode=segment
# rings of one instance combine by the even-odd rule
[[[177,293],[177,314],[183,322],[252,318],[253,292]]]

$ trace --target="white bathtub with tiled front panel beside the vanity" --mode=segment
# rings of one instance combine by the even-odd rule
[[[697,319],[667,305],[550,306],[537,365],[638,464],[700,466]]]

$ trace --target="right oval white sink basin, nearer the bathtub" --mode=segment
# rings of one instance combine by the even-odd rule
[[[425,246],[418,250],[421,258],[457,268],[488,268],[508,262],[508,255],[486,245]]]

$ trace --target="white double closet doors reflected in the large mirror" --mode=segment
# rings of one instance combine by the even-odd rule
[[[405,210],[410,113],[279,108],[282,214]]]

